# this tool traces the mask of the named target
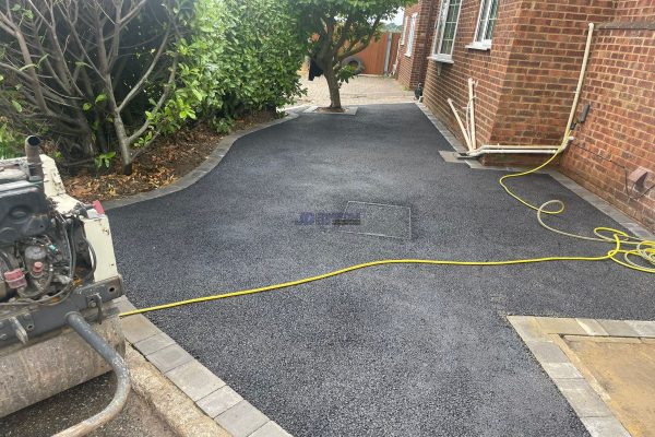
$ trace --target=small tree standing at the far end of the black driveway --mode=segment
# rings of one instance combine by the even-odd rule
[[[311,40],[310,57],[323,70],[330,88],[330,108],[341,109],[340,87],[353,76],[344,59],[379,38],[384,20],[416,0],[290,0],[301,35]]]

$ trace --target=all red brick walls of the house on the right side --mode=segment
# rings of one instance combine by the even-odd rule
[[[652,0],[500,0],[490,50],[473,43],[481,0],[462,2],[452,63],[422,58],[405,63],[398,80],[406,84],[426,69],[425,103],[462,138],[446,103],[464,114],[467,79],[476,86],[477,146],[483,144],[558,145],[573,103],[582,64],[587,23],[596,24],[592,55],[579,110],[591,104],[587,120],[561,160],[563,173],[655,228],[655,189],[643,194],[626,188],[626,174],[651,172],[655,184],[655,3]],[[433,3],[434,32],[439,0]],[[425,4],[415,8],[425,9]],[[407,13],[410,13],[408,9]],[[632,27],[604,28],[608,23]],[[646,24],[644,24],[646,23]],[[650,23],[650,25],[647,24]],[[650,26],[650,27],[648,27]],[[431,55],[432,43],[427,48]],[[408,79],[409,78],[409,79]],[[485,164],[543,161],[543,156],[487,156]],[[636,199],[639,197],[639,199]]]

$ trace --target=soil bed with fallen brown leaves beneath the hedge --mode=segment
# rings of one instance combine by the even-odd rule
[[[277,115],[273,111],[255,113],[237,120],[233,131],[275,118]],[[83,168],[74,176],[62,172],[63,185],[70,196],[83,202],[120,199],[166,187],[198,167],[224,137],[226,134],[217,133],[204,123],[182,129],[159,139],[139,156],[130,176],[119,174],[119,160],[115,158],[106,172]]]

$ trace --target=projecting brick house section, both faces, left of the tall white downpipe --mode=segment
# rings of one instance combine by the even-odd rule
[[[464,107],[466,81],[474,78],[478,145],[558,144],[582,63],[586,23],[612,12],[611,0],[587,3],[501,1],[492,47],[481,51],[465,47],[474,39],[480,1],[464,2],[454,63],[428,66],[427,105],[461,137],[446,98]]]

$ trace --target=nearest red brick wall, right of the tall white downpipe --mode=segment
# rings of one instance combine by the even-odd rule
[[[624,11],[618,12],[617,20],[629,21]],[[643,20],[641,15],[630,21]],[[655,31],[598,28],[592,47],[580,101],[591,109],[575,130],[561,169],[655,228],[655,189],[641,196],[631,182],[626,187],[626,172],[640,166],[651,170],[645,186],[655,185]]]

